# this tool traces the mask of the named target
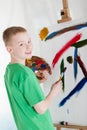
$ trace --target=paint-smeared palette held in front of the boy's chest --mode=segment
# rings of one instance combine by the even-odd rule
[[[26,66],[35,72],[39,80],[42,80],[44,78],[42,76],[44,70],[47,70],[49,75],[52,74],[50,65],[43,58],[38,56],[32,56],[31,59],[26,59]]]

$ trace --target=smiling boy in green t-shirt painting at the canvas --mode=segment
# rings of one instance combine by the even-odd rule
[[[34,72],[25,66],[25,60],[32,56],[27,30],[9,27],[3,32],[3,40],[11,57],[4,80],[18,130],[54,130],[48,108],[62,90],[62,81],[54,83],[45,97]]]

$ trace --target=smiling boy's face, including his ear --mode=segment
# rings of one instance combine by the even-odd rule
[[[7,46],[11,57],[17,60],[25,60],[32,56],[32,43],[27,32],[17,33],[12,36]]]

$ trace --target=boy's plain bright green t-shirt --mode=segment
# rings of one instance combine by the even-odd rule
[[[54,130],[49,110],[38,114],[33,107],[45,99],[33,71],[19,63],[8,64],[4,80],[18,130]]]

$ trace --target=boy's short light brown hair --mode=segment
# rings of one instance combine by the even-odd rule
[[[4,30],[3,41],[5,43],[5,46],[8,45],[8,42],[13,35],[16,35],[17,33],[21,33],[21,32],[27,32],[27,30],[20,26],[12,26]]]

